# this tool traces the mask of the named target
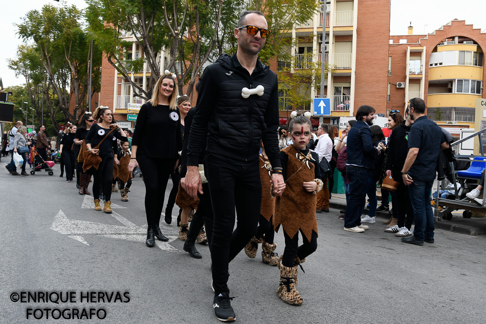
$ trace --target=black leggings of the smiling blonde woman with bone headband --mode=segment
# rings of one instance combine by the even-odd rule
[[[158,226],[164,207],[165,189],[169,175],[174,170],[175,159],[154,159],[146,155],[137,155],[145,184],[145,214],[147,225]],[[113,172],[112,172],[113,174]],[[110,182],[113,175],[110,177]],[[111,189],[109,190],[111,192]]]

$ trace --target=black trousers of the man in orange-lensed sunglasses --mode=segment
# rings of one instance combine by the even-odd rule
[[[235,165],[208,155],[207,171],[214,213],[211,240],[212,278],[215,294],[229,292],[229,261],[257,233],[260,217],[260,165]],[[143,170],[142,170],[143,171]],[[235,208],[238,218],[236,229]]]

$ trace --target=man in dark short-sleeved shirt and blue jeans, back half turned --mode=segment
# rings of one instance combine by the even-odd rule
[[[424,240],[434,243],[434,213],[430,205],[432,185],[440,149],[449,147],[437,124],[425,115],[425,102],[420,98],[410,100],[410,117],[415,121],[408,134],[408,154],[401,170],[403,183],[408,185],[410,201],[414,207],[414,235],[401,241],[424,245]]]

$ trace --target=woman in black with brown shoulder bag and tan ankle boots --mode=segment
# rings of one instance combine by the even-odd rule
[[[93,174],[94,209],[101,211],[100,188],[103,189],[103,211],[111,214],[111,182],[113,180],[113,143],[117,139],[127,141],[125,132],[118,124],[111,124],[113,114],[108,107],[100,106],[93,112],[98,124],[91,126],[86,134],[87,152],[83,154],[83,171]],[[91,155],[91,157],[90,157]],[[95,157],[93,157],[95,156]],[[95,161],[95,163],[92,163]]]

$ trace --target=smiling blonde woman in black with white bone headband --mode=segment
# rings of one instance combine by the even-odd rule
[[[179,152],[182,150],[181,115],[176,105],[175,77],[168,70],[160,76],[152,99],[140,108],[132,138],[128,170],[132,172],[139,165],[145,179],[145,213],[148,224],[145,244],[148,247],[155,245],[155,237],[159,241],[169,241],[160,231],[159,223],[167,181],[177,167]],[[154,129],[158,131],[157,137],[154,136]]]

